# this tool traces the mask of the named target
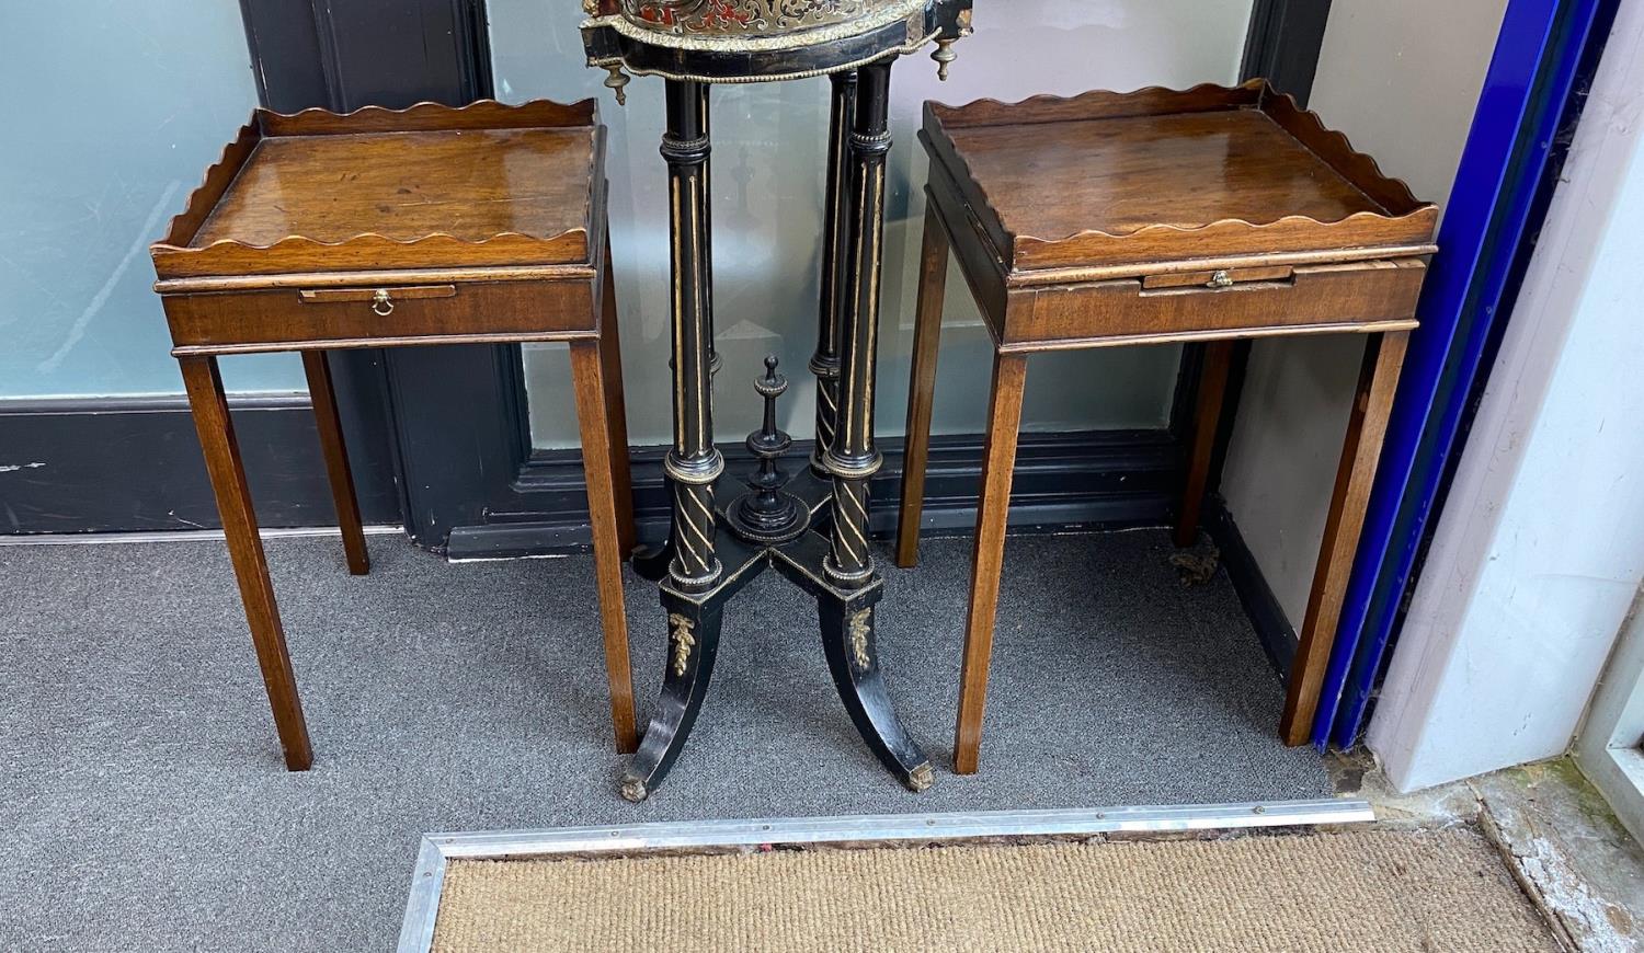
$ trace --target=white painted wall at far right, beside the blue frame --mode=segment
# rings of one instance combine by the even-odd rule
[[[1562,754],[1644,580],[1644,3],[1624,3],[1368,744],[1402,790]]]

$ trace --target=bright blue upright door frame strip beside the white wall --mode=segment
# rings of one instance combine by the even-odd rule
[[[1417,309],[1312,743],[1358,743],[1619,0],[1509,0]]]

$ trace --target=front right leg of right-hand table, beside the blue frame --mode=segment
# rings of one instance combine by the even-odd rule
[[[1318,547],[1314,588],[1307,596],[1307,616],[1302,621],[1295,661],[1291,662],[1284,720],[1279,723],[1279,734],[1291,746],[1307,744],[1312,734],[1318,688],[1330,665],[1337,624],[1342,621],[1342,603],[1348,577],[1353,573],[1358,537],[1365,529],[1365,508],[1369,506],[1369,491],[1376,483],[1381,442],[1388,434],[1388,417],[1399,389],[1409,337],[1411,334],[1404,330],[1383,334],[1373,337],[1365,348],[1342,465],[1337,468],[1335,495],[1330,498],[1330,514],[1325,518],[1325,539]]]

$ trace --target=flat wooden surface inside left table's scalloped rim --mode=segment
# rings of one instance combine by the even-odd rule
[[[441,130],[265,140],[189,242],[266,246],[301,235],[395,242],[589,223],[590,130]]]

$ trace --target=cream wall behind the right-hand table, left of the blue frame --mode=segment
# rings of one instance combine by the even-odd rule
[[[1440,205],[1506,0],[1337,0],[1309,104]],[[1258,342],[1221,493],[1291,624],[1307,611],[1365,342]]]

